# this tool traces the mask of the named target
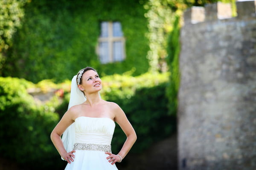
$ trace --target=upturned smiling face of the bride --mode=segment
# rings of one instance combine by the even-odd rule
[[[98,73],[93,70],[86,71],[82,77],[82,84],[79,85],[80,90],[85,93],[98,92],[102,89],[102,81],[99,78]]]

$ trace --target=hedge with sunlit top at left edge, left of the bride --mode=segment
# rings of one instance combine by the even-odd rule
[[[36,105],[26,91],[28,87],[31,83],[24,79],[0,77],[0,138],[4,139],[0,151],[26,169],[45,169],[53,164],[58,167],[52,159],[59,156],[49,141],[58,115]]]

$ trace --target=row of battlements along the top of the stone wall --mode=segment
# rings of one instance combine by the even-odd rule
[[[236,12],[235,18],[238,20],[256,17],[256,0],[237,1]],[[193,6],[184,12],[183,18],[185,25],[233,18],[232,7],[230,3],[221,2],[207,4],[204,7]]]

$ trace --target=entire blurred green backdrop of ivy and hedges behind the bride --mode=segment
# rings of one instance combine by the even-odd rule
[[[235,0],[222,1],[235,8]],[[1,157],[28,170],[63,169],[49,134],[67,111],[71,82],[66,79],[87,65],[102,76],[102,98],[119,104],[134,126],[138,139],[131,152],[141,153],[175,133],[180,15],[213,2],[0,0]],[[101,21],[121,22],[125,61],[99,63]],[[38,94],[52,97],[40,102]],[[124,140],[116,126],[113,152]]]

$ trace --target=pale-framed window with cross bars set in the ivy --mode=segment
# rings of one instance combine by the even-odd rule
[[[102,22],[98,45],[99,60],[102,64],[125,59],[125,38],[119,22]]]

